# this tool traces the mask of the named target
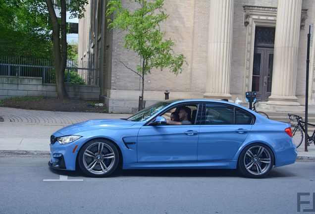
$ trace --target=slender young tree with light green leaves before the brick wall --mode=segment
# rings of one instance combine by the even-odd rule
[[[138,4],[138,8],[131,11],[122,6],[121,0],[108,0],[106,16],[109,22],[108,28],[126,32],[124,47],[138,54],[141,59],[136,70],[120,61],[142,79],[142,93],[139,97],[139,110],[141,110],[145,75],[150,74],[153,68],[163,70],[166,67],[177,75],[182,71],[185,56],[175,55],[172,49],[174,42],[171,39],[163,39],[165,32],[161,31],[160,23],[168,18],[163,8],[164,0],[134,0],[134,2]]]

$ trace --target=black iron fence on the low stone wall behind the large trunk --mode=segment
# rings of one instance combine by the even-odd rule
[[[99,85],[99,70],[89,68],[88,62],[67,61],[64,82],[80,85]],[[0,56],[0,75],[42,77],[43,83],[55,83],[53,61],[46,58]]]

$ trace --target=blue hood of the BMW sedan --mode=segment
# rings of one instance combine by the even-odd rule
[[[130,127],[135,123],[136,122],[134,121],[128,121],[124,119],[95,119],[64,127],[59,129],[58,132],[62,135],[72,135],[83,131],[125,128]]]

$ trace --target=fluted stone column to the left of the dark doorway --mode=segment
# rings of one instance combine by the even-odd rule
[[[210,0],[208,72],[204,98],[230,99],[234,0]]]

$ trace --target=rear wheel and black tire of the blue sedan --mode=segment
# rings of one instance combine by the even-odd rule
[[[273,163],[273,153],[269,147],[255,143],[244,148],[238,159],[237,169],[245,177],[263,178],[270,173]]]

